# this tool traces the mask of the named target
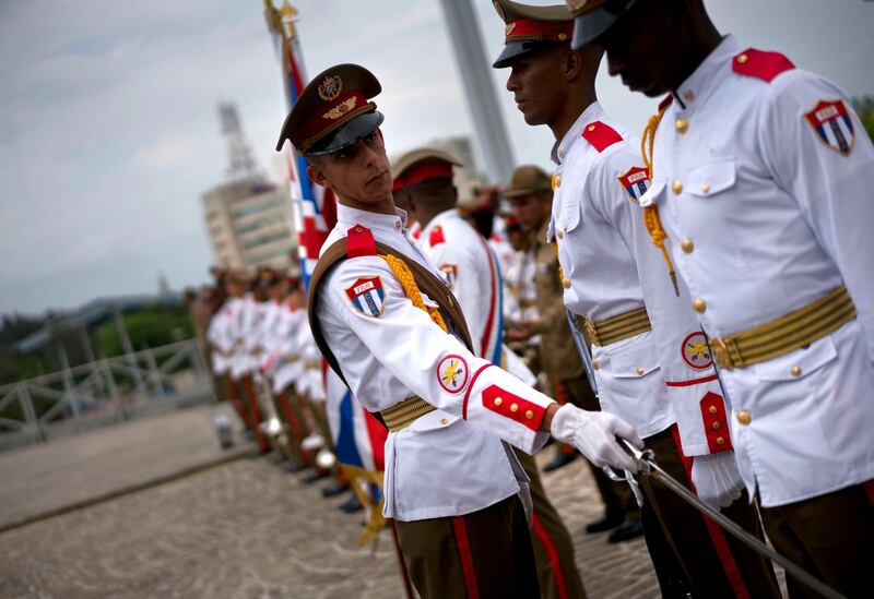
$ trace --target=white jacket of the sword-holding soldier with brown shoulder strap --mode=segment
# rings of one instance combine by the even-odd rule
[[[350,229],[373,235],[437,273],[405,227],[340,204],[323,248]],[[423,300],[434,302],[423,296]],[[498,436],[533,453],[552,399],[473,356],[405,296],[377,255],[350,257],[322,279],[315,308],[353,396],[370,411],[420,396],[437,409],[386,442],[385,515],[403,522],[469,514],[519,491]]]

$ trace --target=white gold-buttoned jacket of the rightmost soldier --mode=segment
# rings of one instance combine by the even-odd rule
[[[708,336],[841,284],[859,313],[804,349],[721,372],[733,414],[746,412],[731,419],[741,472],[765,506],[874,478],[873,178],[871,141],[838,87],[730,36],[656,134],[641,204],[659,206]]]

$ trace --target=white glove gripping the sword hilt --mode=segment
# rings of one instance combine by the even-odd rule
[[[550,432],[557,441],[575,446],[599,468],[611,466],[637,471],[634,459],[619,446],[616,436],[627,440],[639,450],[643,448],[643,442],[635,428],[618,416],[587,411],[565,404],[553,416]]]

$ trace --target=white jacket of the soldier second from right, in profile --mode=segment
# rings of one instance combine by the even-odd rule
[[[571,283],[565,298],[594,321],[646,304],[651,333],[593,348],[604,409],[639,415],[645,436],[675,419],[686,456],[720,453],[731,448],[725,403],[688,289],[674,289],[643,224],[639,146],[594,103],[556,147],[551,232]]]

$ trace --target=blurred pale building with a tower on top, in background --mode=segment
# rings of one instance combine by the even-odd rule
[[[228,268],[288,267],[297,238],[287,189],[258,172],[236,107],[221,104],[218,117],[228,181],[201,196],[214,262]]]

